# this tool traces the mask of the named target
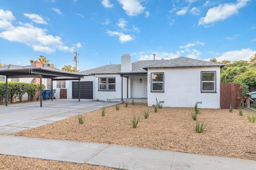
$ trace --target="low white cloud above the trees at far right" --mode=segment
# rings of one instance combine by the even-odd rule
[[[249,58],[255,53],[256,51],[252,51],[250,48],[243,48],[241,50],[236,51],[227,51],[225,53],[222,53],[220,57],[216,57],[217,61],[222,60],[230,60],[233,61],[239,61],[239,60],[246,60],[248,61]]]

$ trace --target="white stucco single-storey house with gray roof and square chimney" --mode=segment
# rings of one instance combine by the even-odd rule
[[[87,99],[146,98],[148,106],[220,108],[220,68],[224,64],[178,57],[170,60],[142,60],[122,55],[121,64],[81,71],[89,76],[80,81],[80,97]],[[71,84],[72,83],[72,84]],[[77,98],[76,84],[70,82]]]

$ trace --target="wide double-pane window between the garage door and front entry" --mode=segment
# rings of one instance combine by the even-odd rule
[[[116,77],[99,77],[99,91],[115,91]]]

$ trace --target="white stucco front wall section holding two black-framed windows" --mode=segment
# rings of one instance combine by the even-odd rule
[[[216,71],[216,93],[201,93],[201,71]],[[151,92],[151,73],[164,73],[164,92]],[[148,106],[220,108],[220,67],[148,69]]]

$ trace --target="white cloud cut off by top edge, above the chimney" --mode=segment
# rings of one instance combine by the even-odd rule
[[[138,0],[118,0],[118,2],[122,4],[123,10],[128,16],[137,16],[145,9]]]

